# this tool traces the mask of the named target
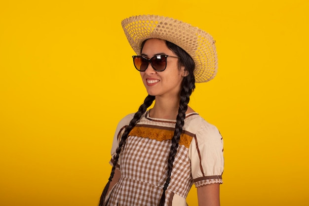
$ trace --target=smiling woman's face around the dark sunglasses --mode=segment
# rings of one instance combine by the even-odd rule
[[[149,39],[145,42],[141,56],[147,59],[155,55],[176,56],[164,40]],[[187,72],[184,67],[178,67],[178,58],[167,57],[166,69],[156,72],[151,64],[145,72],[140,72],[148,94],[160,97],[174,97],[180,95],[181,84]]]

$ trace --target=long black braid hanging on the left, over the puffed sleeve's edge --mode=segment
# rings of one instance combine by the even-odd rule
[[[116,154],[114,155],[113,159],[114,159],[114,163],[113,163],[113,167],[112,167],[112,172],[109,178],[108,183],[105,185],[104,190],[102,192],[101,198],[100,198],[100,202],[99,202],[99,206],[104,206],[104,201],[105,201],[105,197],[107,195],[107,191],[110,187],[110,183],[114,177],[115,174],[115,169],[116,169],[116,164],[118,162],[119,159],[119,155],[121,152],[121,148],[124,147],[125,143],[126,143],[126,139],[130,133],[130,131],[132,130],[132,128],[135,126],[135,124],[138,123],[138,121],[141,119],[142,115],[146,112],[147,108],[150,107],[154,101],[155,97],[148,95],[145,100],[144,103],[140,106],[140,108],[138,109],[138,111],[134,114],[133,119],[130,121],[129,125],[125,127],[125,130],[121,136],[121,140],[119,142],[118,148],[116,149]]]

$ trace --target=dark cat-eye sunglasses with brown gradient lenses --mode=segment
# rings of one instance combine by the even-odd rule
[[[145,72],[148,68],[149,63],[157,72],[163,72],[166,69],[167,65],[167,57],[178,58],[177,56],[169,56],[169,55],[155,55],[150,59],[147,59],[144,56],[132,56],[133,63],[135,68],[140,72]]]

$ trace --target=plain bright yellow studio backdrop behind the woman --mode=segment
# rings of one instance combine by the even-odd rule
[[[222,206],[308,206],[308,0],[1,0],[0,206],[96,206],[118,121],[146,96],[120,21],[216,40],[191,106],[225,143]],[[188,203],[197,205],[195,188]]]

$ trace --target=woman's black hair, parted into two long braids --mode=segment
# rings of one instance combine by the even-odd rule
[[[141,49],[143,49],[143,46],[145,44],[147,40],[145,40],[142,43],[142,47]],[[178,148],[178,143],[180,140],[180,135],[182,133],[183,130],[183,126],[185,123],[185,118],[186,118],[186,112],[188,109],[188,103],[190,101],[190,96],[195,88],[195,79],[194,79],[194,75],[193,75],[193,70],[195,68],[195,63],[193,61],[193,59],[191,58],[191,56],[185,51],[183,50],[181,47],[177,46],[176,44],[166,41],[166,46],[171,49],[178,57],[180,57],[179,61],[178,61],[178,67],[180,69],[181,66],[185,67],[185,71],[188,72],[187,76],[184,77],[183,82],[182,82],[182,89],[180,92],[180,102],[179,102],[179,109],[178,109],[178,115],[176,118],[176,124],[175,124],[175,130],[174,130],[174,136],[171,140],[171,149],[170,149],[170,153],[169,153],[169,157],[167,160],[167,178],[163,187],[163,192],[162,192],[162,196],[159,202],[158,206],[164,206],[165,203],[165,191],[169,185],[169,182],[171,180],[171,173],[172,173],[172,169],[173,169],[173,163],[174,163],[174,159],[177,153],[177,148]],[[114,177],[114,173],[115,173],[115,169],[116,169],[116,164],[117,161],[119,159],[119,154],[121,152],[121,148],[124,147],[126,139],[128,137],[128,134],[130,133],[130,131],[132,130],[132,128],[135,126],[135,124],[138,123],[138,121],[140,120],[140,118],[142,117],[142,115],[146,112],[147,108],[150,107],[154,101],[155,97],[152,95],[148,95],[145,100],[144,103],[139,107],[139,110],[135,113],[133,119],[130,121],[129,125],[125,127],[125,130],[121,136],[121,140],[119,142],[118,148],[116,149],[116,155],[114,156],[114,163],[113,163],[113,167],[112,167],[112,172],[109,178],[108,183],[106,184],[101,198],[100,198],[100,202],[99,202],[99,206],[104,206],[104,202],[105,202],[105,197],[107,195],[107,191],[109,189],[110,186],[110,182],[112,181],[113,177]]]

